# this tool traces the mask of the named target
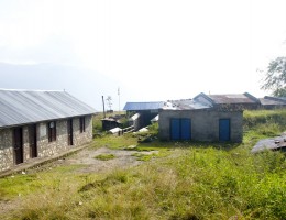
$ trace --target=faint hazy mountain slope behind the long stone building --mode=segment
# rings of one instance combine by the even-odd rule
[[[118,81],[95,70],[57,64],[14,65],[0,63],[0,88],[66,90],[101,110],[101,96],[117,97]],[[122,88],[124,96],[127,89]],[[132,97],[132,96],[131,96]],[[127,99],[122,98],[122,103]],[[117,102],[114,108],[118,108]]]

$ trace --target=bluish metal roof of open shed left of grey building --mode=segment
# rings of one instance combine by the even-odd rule
[[[161,109],[163,106],[164,106],[164,101],[127,102],[123,110],[125,111],[155,110],[155,109]]]

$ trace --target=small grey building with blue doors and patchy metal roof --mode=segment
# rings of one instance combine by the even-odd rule
[[[243,111],[196,100],[172,101],[160,110],[158,125],[161,140],[241,142]]]

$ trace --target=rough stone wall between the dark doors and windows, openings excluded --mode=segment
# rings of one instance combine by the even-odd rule
[[[37,157],[52,156],[57,153],[77,147],[92,140],[92,117],[86,116],[86,131],[80,133],[79,118],[73,118],[73,141],[74,145],[68,145],[67,120],[56,121],[56,141],[48,142],[47,123],[36,124]],[[23,125],[23,161],[31,160],[29,143],[29,125]],[[15,165],[13,150],[13,128],[0,129],[0,172],[9,169]]]

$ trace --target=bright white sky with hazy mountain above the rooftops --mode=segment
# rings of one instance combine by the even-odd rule
[[[0,88],[127,101],[261,90],[285,0],[0,0]],[[120,96],[118,90],[120,88]]]

